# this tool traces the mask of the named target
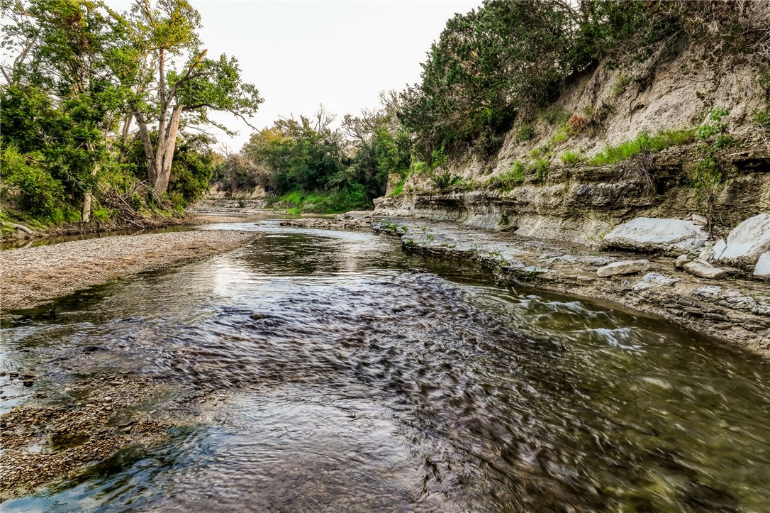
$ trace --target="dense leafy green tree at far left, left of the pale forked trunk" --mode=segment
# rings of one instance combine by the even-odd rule
[[[69,193],[82,195],[88,221],[95,176],[109,159],[108,135],[123,107],[111,73],[122,18],[92,0],[3,2],[2,8],[10,20],[4,47],[18,49],[2,69],[6,106],[15,107],[4,112],[5,141],[42,152]],[[35,103],[45,108],[25,112]]]

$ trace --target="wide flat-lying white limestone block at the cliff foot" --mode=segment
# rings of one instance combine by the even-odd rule
[[[648,253],[691,252],[706,240],[708,233],[691,221],[655,217],[637,217],[604,236],[606,246]]]

